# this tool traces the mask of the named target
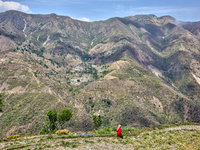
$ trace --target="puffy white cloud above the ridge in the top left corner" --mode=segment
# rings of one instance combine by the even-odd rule
[[[13,1],[3,2],[2,0],[0,0],[0,12],[4,12],[7,10],[18,10],[25,13],[32,13],[29,7],[26,5],[22,5]]]

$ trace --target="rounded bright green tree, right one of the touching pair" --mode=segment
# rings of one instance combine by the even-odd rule
[[[61,112],[58,114],[58,122],[61,128],[63,128],[64,123],[69,121],[72,116],[73,114],[69,109],[61,110]]]

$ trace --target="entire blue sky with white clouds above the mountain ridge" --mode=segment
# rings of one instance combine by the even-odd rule
[[[180,21],[200,21],[200,0],[0,0],[0,12],[70,16],[99,21],[137,14],[170,15]]]

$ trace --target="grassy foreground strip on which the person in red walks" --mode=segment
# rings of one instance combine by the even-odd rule
[[[181,127],[183,128],[141,129],[137,135],[126,135],[127,132],[124,133],[123,140],[117,139],[116,135],[113,137],[112,134],[110,137],[101,137],[100,134],[93,137],[77,137],[71,134],[2,140],[0,149],[200,149],[200,126]]]

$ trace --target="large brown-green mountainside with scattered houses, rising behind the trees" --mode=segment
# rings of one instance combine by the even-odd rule
[[[100,22],[0,14],[0,136],[38,134],[48,110],[71,130],[200,122],[198,23],[137,15]]]

